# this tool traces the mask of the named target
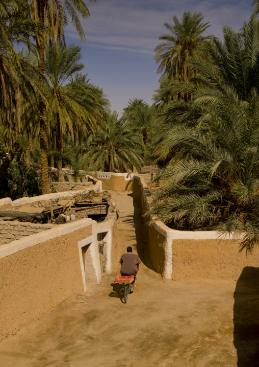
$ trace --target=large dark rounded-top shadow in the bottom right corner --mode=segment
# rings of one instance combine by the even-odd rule
[[[238,367],[259,366],[259,268],[246,266],[234,293],[234,346]]]

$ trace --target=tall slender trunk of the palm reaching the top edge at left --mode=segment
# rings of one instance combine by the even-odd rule
[[[38,18],[44,24],[44,0],[37,1],[37,12]],[[44,58],[45,58],[45,47],[42,42],[37,39],[36,46],[39,52],[38,69],[39,72],[44,74]],[[49,193],[49,182],[48,182],[48,162],[47,162],[47,114],[46,105],[39,96],[39,112],[40,112],[40,157],[41,157],[41,178],[42,178],[42,194]]]

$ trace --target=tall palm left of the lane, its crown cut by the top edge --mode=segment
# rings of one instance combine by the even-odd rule
[[[97,0],[89,0],[91,3]],[[33,6],[32,18],[38,19],[42,25],[46,25],[53,32],[56,47],[58,48],[58,39],[63,39],[63,27],[67,25],[67,14],[69,14],[72,24],[75,27],[80,39],[85,39],[84,30],[80,20],[80,16],[88,18],[90,16],[89,8],[84,0],[29,0]],[[45,40],[48,38],[46,33],[43,34]],[[38,68],[40,73],[44,75],[44,56],[45,43],[39,37],[36,37],[36,46],[39,53]],[[48,185],[48,169],[47,169],[47,120],[46,120],[46,103],[39,96],[39,124],[40,124],[40,147],[41,147],[41,174],[42,174],[42,191],[43,194],[49,192]]]

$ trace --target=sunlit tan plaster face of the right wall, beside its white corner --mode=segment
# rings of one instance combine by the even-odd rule
[[[237,280],[245,266],[257,267],[259,261],[259,248],[252,255],[238,249],[234,240],[173,240],[172,279]]]

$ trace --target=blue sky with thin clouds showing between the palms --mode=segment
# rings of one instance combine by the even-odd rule
[[[83,20],[87,38],[81,43],[74,29],[65,29],[67,43],[82,46],[84,73],[103,89],[111,109],[122,112],[128,101],[151,104],[158,88],[153,49],[159,35],[184,11],[201,12],[211,27],[206,33],[222,37],[222,26],[239,30],[251,13],[250,0],[98,0],[89,3],[91,17]]]

